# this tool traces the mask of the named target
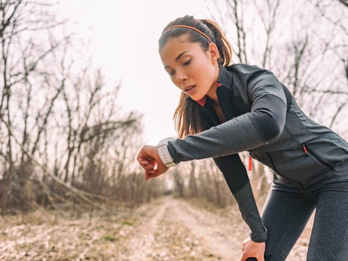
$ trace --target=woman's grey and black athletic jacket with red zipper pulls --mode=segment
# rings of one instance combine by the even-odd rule
[[[238,152],[248,151],[268,166],[277,181],[306,189],[327,181],[348,180],[348,143],[309,119],[286,86],[256,65],[219,63],[216,95],[226,118],[220,123],[205,96],[187,97],[203,110],[208,129],[168,142],[175,162],[213,158],[235,197],[255,242],[267,240],[246,168]]]

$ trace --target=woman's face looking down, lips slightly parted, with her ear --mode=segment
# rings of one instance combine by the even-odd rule
[[[185,38],[182,36],[180,40]],[[193,100],[200,100],[209,90],[209,93],[215,94],[214,83],[219,74],[219,65],[216,63],[219,53],[215,44],[211,44],[208,52],[204,52],[196,42],[172,38],[159,54],[168,77]],[[192,85],[195,87],[187,91],[186,88]]]

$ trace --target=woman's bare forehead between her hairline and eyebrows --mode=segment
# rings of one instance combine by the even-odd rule
[[[170,65],[175,63],[175,58],[182,52],[189,51],[185,54],[193,54],[200,51],[198,43],[183,42],[182,40],[169,39],[168,42],[160,50],[159,54],[163,64]],[[183,54],[183,55],[185,55]]]

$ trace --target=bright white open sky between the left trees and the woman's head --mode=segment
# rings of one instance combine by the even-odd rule
[[[205,1],[62,0],[64,15],[79,21],[78,32],[91,39],[95,65],[108,86],[121,80],[118,104],[144,113],[144,144],[176,137],[172,120],[180,90],[158,54],[163,28],[177,17],[207,18]]]

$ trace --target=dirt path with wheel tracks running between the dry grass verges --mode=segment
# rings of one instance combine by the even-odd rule
[[[306,259],[313,217],[287,261]],[[182,199],[167,197],[152,220],[139,226],[134,237],[125,242],[131,247],[126,248],[122,260],[239,261],[246,237],[248,227],[238,211],[219,215]]]

